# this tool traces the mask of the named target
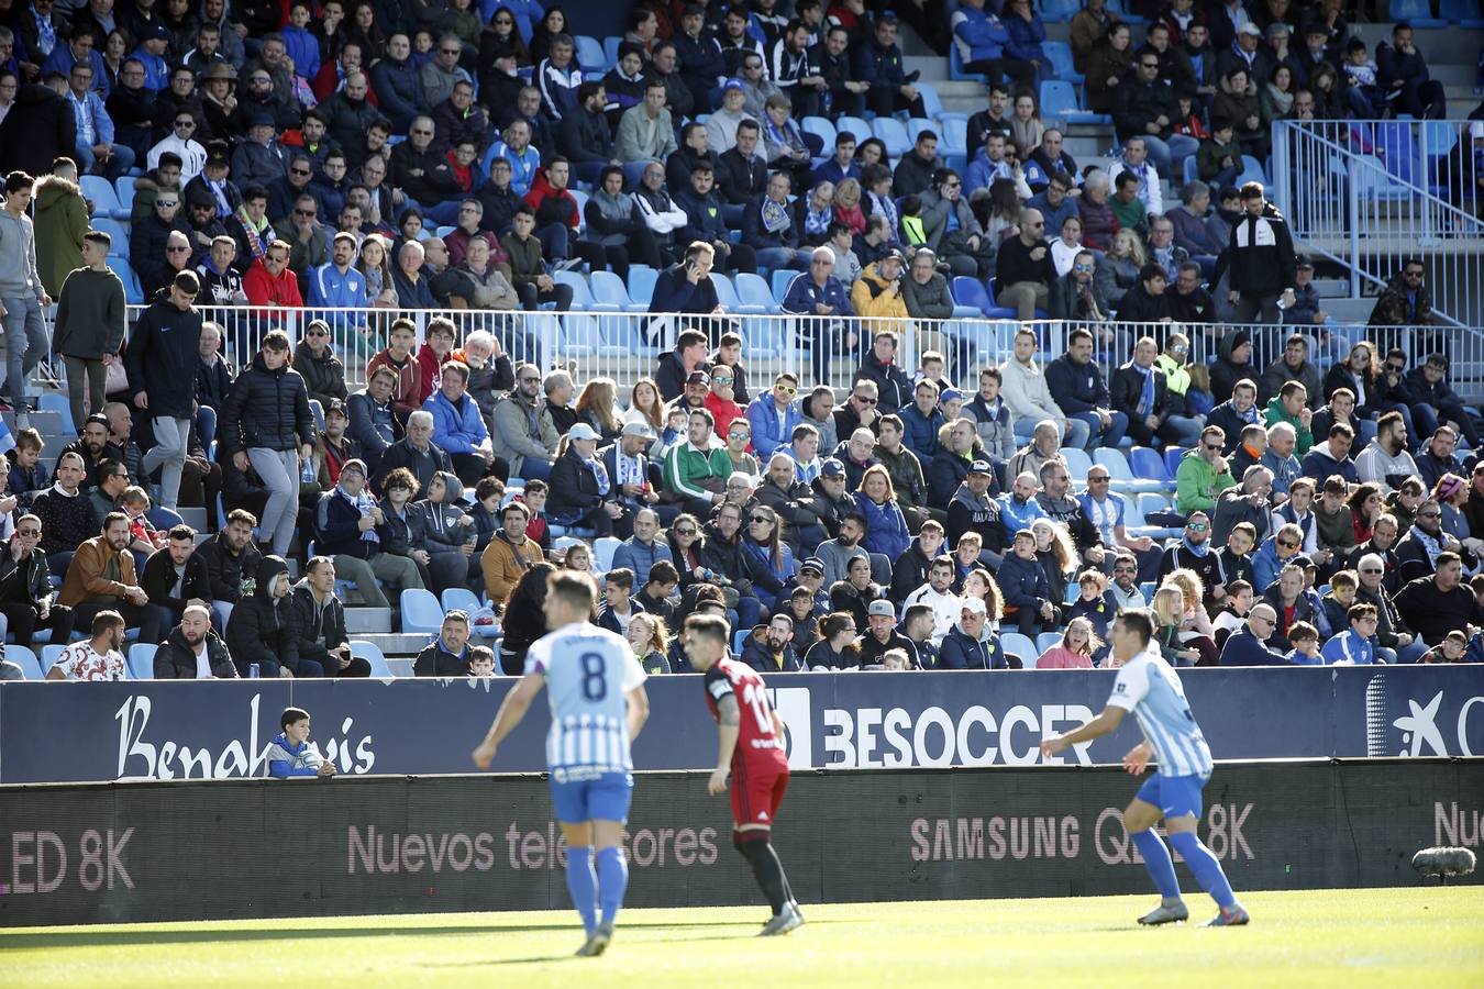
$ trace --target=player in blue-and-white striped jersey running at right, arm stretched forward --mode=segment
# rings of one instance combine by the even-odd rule
[[[1153,758],[1159,771],[1138,787],[1138,795],[1123,811],[1123,827],[1144,856],[1144,867],[1155,879],[1162,897],[1155,910],[1138,918],[1140,924],[1169,924],[1190,916],[1180,899],[1175,863],[1169,848],[1153,832],[1160,818],[1169,833],[1169,844],[1196,873],[1201,888],[1211,894],[1220,912],[1205,927],[1247,924],[1247,910],[1236,902],[1232,884],[1221,872],[1221,863],[1196,835],[1201,821],[1201,790],[1211,778],[1211,749],[1206,747],[1201,725],[1190,713],[1180,675],[1171,669],[1149,642],[1155,635],[1153,615],[1143,608],[1123,611],[1110,630],[1117,679],[1103,713],[1058,738],[1040,743],[1045,756],[1057,755],[1068,746],[1100,738],[1134,712],[1144,741],[1123,756],[1123,767],[1134,775],[1144,771]]]

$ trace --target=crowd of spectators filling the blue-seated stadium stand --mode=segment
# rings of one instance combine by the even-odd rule
[[[1027,0],[643,3],[600,77],[533,0],[7,4],[0,393],[24,412],[50,351],[79,437],[49,464],[13,436],[0,612],[22,644],[91,633],[53,676],[122,675],[126,635],[165,644],[157,676],[364,676],[344,602],[467,589],[487,603],[416,670],[487,669],[470,632],[497,624],[516,673],[543,575],[595,569],[561,532],[620,541],[597,620],[651,672],[689,669],[668,630],[697,611],[764,670],[1092,666],[1144,603],[1181,664],[1484,658],[1477,412],[1441,337],[1391,345],[1432,322],[1423,261],[1377,300],[1388,344],[1352,341],[1261,184],[1236,184],[1276,119],[1441,117],[1442,90],[1407,24],[1373,64],[1337,0],[1298,7],[1171,0],[1135,46],[1086,4],[1071,49],[1119,151],[1082,171],[1040,120]],[[893,163],[801,125],[926,116],[899,19],[990,80],[957,168],[932,129]],[[1471,209],[1480,138],[1439,165]],[[132,171],[131,326],[80,175]],[[530,362],[519,311],[573,304],[556,273],[640,264],[672,316],[650,377],[622,394]],[[807,372],[748,381],[712,270],[798,271],[781,301]],[[950,316],[957,279],[1079,329],[1049,360],[1027,326],[1000,366],[951,338],[902,366],[899,329]],[[258,316],[199,308],[234,304]],[[297,341],[261,317],[306,307],[341,311]],[[433,319],[418,348],[417,308],[490,319]],[[1276,325],[1307,332],[1254,366]],[[840,402],[831,360],[856,359]],[[1132,532],[1132,477],[1088,460],[1131,445],[1183,451],[1150,519],[1166,544]],[[181,506],[211,538],[156,528]]]

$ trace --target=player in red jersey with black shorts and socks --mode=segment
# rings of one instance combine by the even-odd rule
[[[804,922],[772,844],[773,820],[788,789],[784,721],[767,703],[763,678],[727,657],[730,639],[726,620],[717,615],[686,618],[683,642],[690,664],[705,675],[706,704],[717,719],[720,741],[706,789],[712,796],[726,792],[732,774],[732,844],[752,866],[773,907],[773,919],[760,933],[772,937]]]

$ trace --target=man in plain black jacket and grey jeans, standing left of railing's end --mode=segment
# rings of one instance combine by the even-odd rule
[[[144,476],[160,470],[160,506],[175,510],[186,466],[190,423],[196,414],[196,365],[200,362],[200,279],[181,271],[134,326],[125,365],[134,408],[154,427],[154,446],[139,464]]]

